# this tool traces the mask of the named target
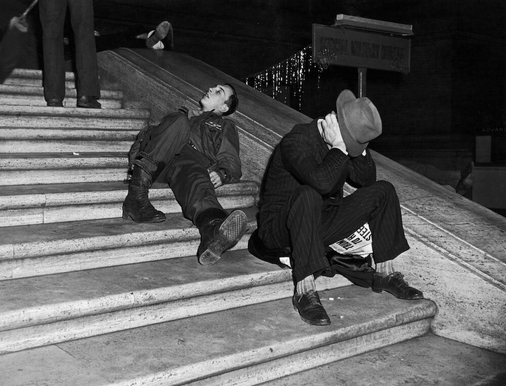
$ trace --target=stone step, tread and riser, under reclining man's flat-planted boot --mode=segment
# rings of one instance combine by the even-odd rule
[[[248,230],[235,249],[246,249],[257,227],[257,208],[242,210]],[[166,217],[154,224],[112,218],[2,227],[0,280],[194,256],[198,229],[181,213]]]

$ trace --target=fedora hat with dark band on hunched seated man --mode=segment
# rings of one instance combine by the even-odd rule
[[[369,141],[381,134],[382,123],[378,110],[369,98],[356,98],[350,90],[341,91],[335,108],[346,151],[350,157],[358,157]]]

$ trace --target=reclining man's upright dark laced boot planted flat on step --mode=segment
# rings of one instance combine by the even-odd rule
[[[156,210],[148,199],[148,191],[154,180],[153,174],[158,168],[157,164],[151,161],[154,160],[142,158],[134,162],[128,195],[123,202],[124,219],[130,217],[135,222],[165,221],[163,212]]]

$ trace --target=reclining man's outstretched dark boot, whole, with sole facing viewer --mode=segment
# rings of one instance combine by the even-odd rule
[[[200,245],[197,250],[198,262],[213,265],[221,254],[232,248],[246,231],[247,218],[243,211],[227,212],[219,208],[209,208],[195,218],[200,231]]]

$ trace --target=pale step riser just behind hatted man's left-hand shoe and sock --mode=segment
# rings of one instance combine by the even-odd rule
[[[318,291],[343,285],[340,280],[321,279],[317,285]],[[11,329],[0,332],[0,354],[282,299],[289,297],[292,292],[293,283],[289,280],[229,291],[226,297],[207,295]]]

